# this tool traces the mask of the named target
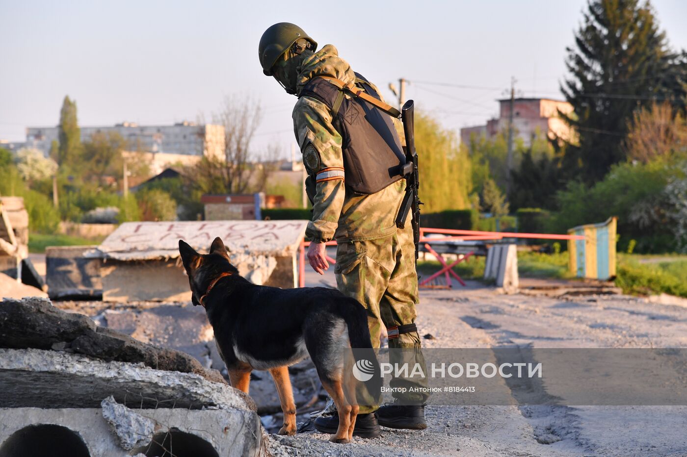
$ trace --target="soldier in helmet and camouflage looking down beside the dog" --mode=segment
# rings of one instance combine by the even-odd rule
[[[412,349],[424,364],[414,324],[418,277],[412,228],[395,224],[405,192],[403,176],[394,171],[394,165],[400,172],[399,163],[405,163],[396,132],[400,121],[379,110],[385,104],[376,86],[354,73],[333,45],[316,48],[297,25],[278,23],[262,34],[258,49],[264,74],[298,97],[293,129],[313,203],[306,229],[312,240],[308,261],[324,274],[329,268],[324,243],[336,239],[338,288],[368,309],[372,346],[379,347],[385,325],[389,347]],[[382,103],[373,106],[354,96],[357,91]],[[423,388],[426,379],[392,379],[391,386]],[[427,427],[426,393],[396,393],[394,398],[392,405],[379,409],[361,406],[353,434],[378,436],[379,425]],[[315,428],[333,433],[338,422],[337,414],[319,417]]]

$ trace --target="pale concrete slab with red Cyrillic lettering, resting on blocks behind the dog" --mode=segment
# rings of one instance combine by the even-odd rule
[[[296,286],[295,255],[306,221],[128,222],[87,257],[102,258],[103,301],[188,301],[179,239],[207,252],[221,237],[232,263],[252,283]]]

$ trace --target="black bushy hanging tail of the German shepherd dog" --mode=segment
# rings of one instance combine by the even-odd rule
[[[356,299],[348,298],[342,302],[341,315],[348,327],[348,340],[353,358],[350,373],[360,384],[356,397],[361,405],[376,406],[381,402],[383,377],[377,354],[372,349],[368,312]],[[371,375],[371,376],[370,376]]]

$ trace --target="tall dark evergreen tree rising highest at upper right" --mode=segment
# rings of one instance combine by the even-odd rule
[[[567,178],[595,183],[626,158],[622,142],[634,110],[662,100],[684,110],[687,54],[668,48],[651,5],[638,0],[590,0],[575,43],[561,86],[574,115],[561,115],[578,142],[563,148],[563,169]]]

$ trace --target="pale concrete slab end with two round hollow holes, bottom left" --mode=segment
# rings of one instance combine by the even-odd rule
[[[102,408],[0,408],[0,455],[146,457],[164,455],[161,446],[174,449],[179,457],[270,455],[269,436],[255,412],[180,408],[132,412],[153,423],[155,432],[128,450]]]

